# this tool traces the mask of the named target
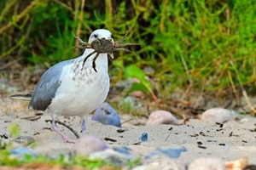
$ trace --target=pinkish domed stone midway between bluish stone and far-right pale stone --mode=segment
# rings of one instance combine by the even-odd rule
[[[169,111],[154,111],[148,117],[146,125],[171,124],[178,125],[177,118]]]

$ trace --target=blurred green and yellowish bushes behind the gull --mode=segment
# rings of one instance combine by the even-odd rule
[[[82,53],[72,48],[78,45],[72,31],[86,42],[98,28],[115,41],[129,30],[125,42],[141,46],[131,48],[136,56],[114,54],[113,82],[128,69],[154,80],[154,87],[144,85],[161,98],[177,87],[255,89],[253,0],[1,0],[0,8],[1,65],[19,59],[49,68]]]

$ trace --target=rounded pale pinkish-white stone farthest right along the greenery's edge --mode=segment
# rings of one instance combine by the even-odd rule
[[[201,120],[211,124],[224,123],[232,120],[234,117],[233,111],[224,108],[212,108],[204,111],[201,115]]]

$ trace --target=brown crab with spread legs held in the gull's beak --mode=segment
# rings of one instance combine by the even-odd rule
[[[86,61],[92,54],[96,54],[96,56],[92,59],[92,68],[94,71],[96,70],[96,59],[98,58],[99,54],[108,54],[113,59],[113,51],[125,51],[131,54],[134,54],[130,49],[125,47],[127,46],[135,46],[140,45],[139,43],[121,43],[124,42],[125,37],[127,37],[128,31],[126,31],[125,36],[122,37],[119,41],[114,42],[113,38],[106,39],[106,38],[97,38],[92,42],[84,42],[79,37],[73,35],[82,45],[77,46],[76,48],[93,48],[94,51],[88,54],[84,61],[83,66]],[[135,55],[135,54],[134,54]],[[83,67],[82,67],[83,68]]]

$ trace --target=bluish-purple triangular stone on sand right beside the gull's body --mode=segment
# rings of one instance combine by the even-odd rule
[[[104,125],[121,127],[119,114],[106,102],[96,109],[91,120],[101,122]]]

